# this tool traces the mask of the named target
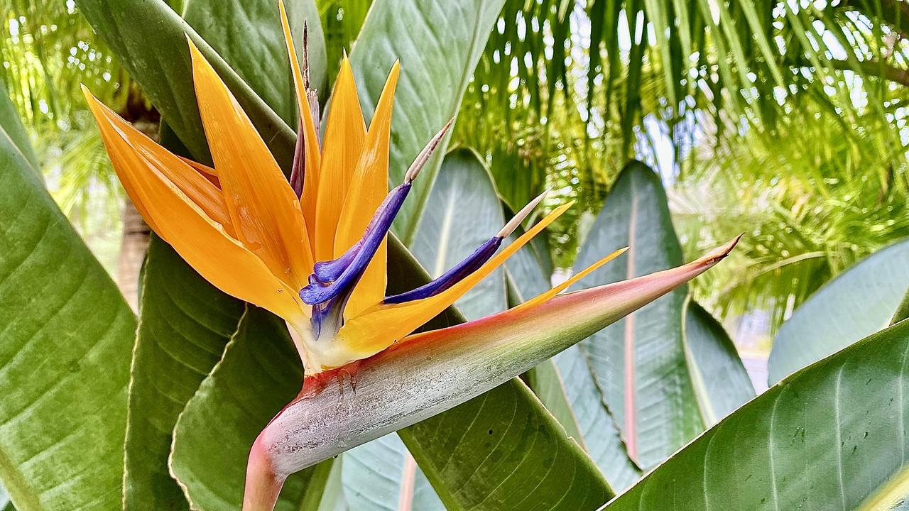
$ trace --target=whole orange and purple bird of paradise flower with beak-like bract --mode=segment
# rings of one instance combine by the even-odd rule
[[[305,456],[287,446],[288,438],[312,434],[304,426],[313,414],[301,413],[301,406],[318,398],[337,368],[355,372],[365,359],[385,361],[391,367],[400,354],[413,360],[415,350],[428,353],[433,348],[427,346],[452,346],[454,341],[461,345],[446,356],[428,365],[416,364],[423,372],[421,377],[437,371],[446,361],[464,360],[464,354],[488,360],[522,349],[532,354],[514,356],[513,364],[491,371],[488,378],[475,378],[473,384],[446,386],[442,394],[449,397],[443,401],[447,407],[454,406],[703,273],[737,241],[674,270],[556,298],[624,252],[617,250],[521,306],[462,326],[415,335],[416,329],[504,264],[571,203],[555,207],[505,244],[539,205],[540,195],[442,276],[406,293],[385,296],[389,229],[420,171],[443,145],[452,122],[429,140],[404,181],[389,192],[391,117],[400,66],[395,63],[392,67],[367,129],[353,70],[345,56],[320,145],[318,104],[308,87],[305,51],[301,68],[284,5],[279,9],[300,106],[289,180],[234,95],[189,37],[195,93],[214,168],[169,152],[84,89],[115,171],[146,223],[213,285],[282,317],[305,366],[301,395],[275,417],[252,448],[245,509],[270,509],[287,475],[335,454],[327,441],[321,446],[313,444]],[[528,347],[527,343],[538,341],[534,332],[541,328],[567,334],[558,343]],[[511,347],[489,351],[490,346],[498,346],[496,339]],[[395,352],[389,346],[407,347]],[[347,422],[342,420],[340,429],[349,429],[350,420],[378,425],[350,433],[345,446],[441,411],[437,409],[441,394],[427,390],[430,394],[432,398],[395,405],[394,412],[380,411],[385,419],[380,420],[375,411],[361,411],[359,418],[353,414],[354,418],[344,419]],[[274,440],[275,436],[281,436],[281,441]]]

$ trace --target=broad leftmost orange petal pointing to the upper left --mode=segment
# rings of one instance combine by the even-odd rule
[[[132,135],[114,123],[112,115],[119,117],[87,92],[86,97],[117,176],[155,233],[228,295],[262,306],[294,325],[303,324],[308,307],[298,303],[295,290],[276,278],[168,178],[170,171],[162,166],[166,158],[137,149]],[[173,159],[179,162],[175,156]],[[188,165],[185,168],[189,175],[205,181]]]

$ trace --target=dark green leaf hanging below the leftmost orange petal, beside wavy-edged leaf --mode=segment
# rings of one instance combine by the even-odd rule
[[[220,360],[245,307],[208,284],[157,236],[148,246],[142,289],[126,427],[125,509],[189,509],[167,470],[171,433]]]

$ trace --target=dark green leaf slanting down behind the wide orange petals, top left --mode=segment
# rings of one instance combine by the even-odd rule
[[[209,161],[185,34],[193,37],[230,87],[278,163],[290,168],[294,130],[163,0],[78,0],[76,4],[195,158]]]

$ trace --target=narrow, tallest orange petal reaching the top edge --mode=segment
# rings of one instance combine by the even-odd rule
[[[300,71],[300,62],[296,59],[294,35],[290,32],[290,24],[287,23],[287,13],[285,12],[284,2],[282,0],[278,1],[278,9],[281,11],[281,26],[284,28],[287,55],[290,58],[291,72],[294,75],[296,105],[300,109],[300,117],[303,120],[301,127],[303,128],[302,131],[304,136],[306,174],[303,181],[303,195],[300,197],[300,202],[303,207],[303,216],[306,221],[307,232],[309,233],[310,245],[315,247],[316,192],[319,189],[319,169],[322,166],[320,161],[321,155],[319,155],[319,139],[318,135],[316,135],[313,113],[309,110],[309,98],[306,96],[306,85],[303,73]]]

